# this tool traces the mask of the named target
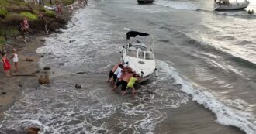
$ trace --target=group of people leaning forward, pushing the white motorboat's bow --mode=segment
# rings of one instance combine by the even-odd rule
[[[115,91],[120,85],[122,85],[122,94],[125,95],[129,88],[132,89],[133,96],[136,95],[134,84],[136,81],[140,81],[142,77],[137,75],[127,64],[118,63],[109,72],[109,80],[112,85],[112,91]]]

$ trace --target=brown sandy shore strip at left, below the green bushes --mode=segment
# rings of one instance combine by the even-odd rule
[[[57,29],[64,28],[67,22],[71,19],[71,13],[67,10],[64,11],[63,15],[59,15],[58,19],[54,22],[54,30],[52,33],[57,32]],[[58,23],[59,19],[64,22]],[[32,27],[33,29],[33,27]],[[43,31],[36,31],[36,33],[29,33],[26,42],[22,39],[22,36],[18,36],[19,39],[12,39],[12,43],[6,46],[7,57],[9,58],[12,66],[11,74],[33,74],[35,76],[12,76],[6,77],[5,72],[0,65],[0,122],[5,118],[5,112],[9,110],[16,101],[22,98],[22,91],[26,88],[36,88],[39,86],[38,78],[43,74],[51,74],[51,70],[43,70],[39,67],[40,55],[36,53],[36,49],[43,46],[45,43],[44,38],[50,36],[50,34],[42,33]],[[19,72],[14,72],[14,64],[12,63],[12,48],[16,48],[19,55]],[[32,59],[33,61],[26,61],[26,58]]]

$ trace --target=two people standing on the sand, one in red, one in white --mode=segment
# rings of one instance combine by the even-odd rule
[[[2,65],[3,65],[3,68],[5,70],[5,73],[6,73],[6,76],[11,76],[9,70],[11,69],[11,64],[9,63],[9,60],[8,58],[6,57],[6,51],[3,50],[1,52],[2,54]],[[18,68],[18,62],[19,62],[19,58],[18,58],[18,53],[16,51],[16,49],[13,49],[12,50],[12,62],[16,68],[15,71],[19,71],[19,68]]]

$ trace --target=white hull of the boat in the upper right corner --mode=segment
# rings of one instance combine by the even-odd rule
[[[214,5],[215,10],[239,10],[239,9],[245,9],[249,3],[236,3],[234,5]]]

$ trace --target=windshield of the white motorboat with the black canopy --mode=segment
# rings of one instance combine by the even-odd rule
[[[145,60],[154,60],[154,54],[151,53],[150,51],[129,49],[127,52],[127,56],[136,57],[136,58],[145,59]]]

